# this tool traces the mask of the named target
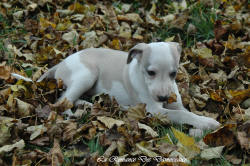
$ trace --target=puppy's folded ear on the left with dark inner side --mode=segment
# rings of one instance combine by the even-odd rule
[[[128,52],[127,64],[129,64],[133,60],[133,58],[137,58],[139,61],[146,47],[147,47],[146,43],[139,43],[135,45],[133,48],[131,48]]]

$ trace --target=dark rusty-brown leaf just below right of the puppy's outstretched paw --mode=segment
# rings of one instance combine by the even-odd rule
[[[235,143],[235,128],[236,124],[226,124],[207,134],[203,141],[209,146],[231,146]]]

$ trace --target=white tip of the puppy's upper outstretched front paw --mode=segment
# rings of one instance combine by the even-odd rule
[[[199,129],[216,129],[221,124],[213,118],[198,116],[195,122],[195,127]]]

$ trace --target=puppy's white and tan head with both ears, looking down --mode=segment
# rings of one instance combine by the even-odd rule
[[[175,42],[140,43],[129,51],[127,63],[137,60],[152,98],[165,102],[174,91],[181,47]]]

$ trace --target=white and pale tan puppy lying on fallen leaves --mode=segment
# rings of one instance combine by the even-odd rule
[[[181,48],[175,42],[140,43],[130,51],[88,48],[79,51],[49,69],[45,77],[62,79],[67,86],[61,100],[76,102],[88,93],[108,93],[121,105],[146,103],[152,114],[165,114],[175,123],[199,129],[214,129],[216,120],[186,110],[175,82]],[[171,93],[177,102],[163,108]]]

